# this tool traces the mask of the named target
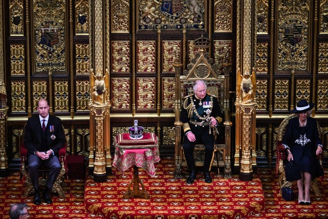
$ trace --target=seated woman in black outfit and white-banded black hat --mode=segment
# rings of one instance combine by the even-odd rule
[[[300,205],[310,205],[310,182],[317,176],[317,155],[322,153],[322,142],[320,140],[317,121],[310,117],[314,104],[308,104],[305,99],[297,103],[296,108],[291,111],[297,117],[291,118],[285,134],[282,138],[282,145],[285,147],[288,161],[293,161],[296,171],[299,173],[297,179],[298,203]],[[289,178],[286,172],[286,179]],[[303,184],[305,193],[303,193]]]

